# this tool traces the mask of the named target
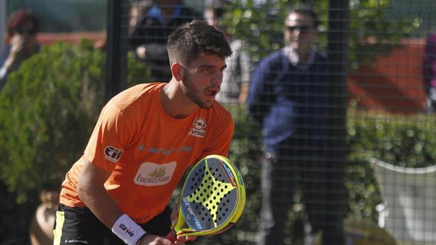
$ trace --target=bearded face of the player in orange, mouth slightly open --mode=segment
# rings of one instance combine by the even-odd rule
[[[184,94],[202,108],[212,107],[225,67],[224,59],[217,55],[199,55],[189,67],[183,68]]]

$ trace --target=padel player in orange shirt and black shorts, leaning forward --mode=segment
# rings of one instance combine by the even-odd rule
[[[62,183],[54,245],[174,244],[164,238],[173,190],[193,163],[227,155],[234,122],[215,101],[232,53],[224,33],[195,20],[168,36],[167,49],[171,81],[134,86],[102,109]]]

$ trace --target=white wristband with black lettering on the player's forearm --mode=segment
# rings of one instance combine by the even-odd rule
[[[111,230],[128,245],[136,245],[136,242],[146,233],[127,214],[121,215],[115,221]]]

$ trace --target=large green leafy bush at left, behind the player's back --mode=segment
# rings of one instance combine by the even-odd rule
[[[143,63],[128,64],[136,68],[129,85],[146,79]],[[0,95],[0,177],[19,202],[34,190],[59,188],[83,153],[104,102],[104,65],[92,42],[59,42],[8,77]]]

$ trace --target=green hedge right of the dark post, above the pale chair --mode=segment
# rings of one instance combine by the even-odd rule
[[[351,160],[376,157],[416,168],[435,164],[435,116],[357,112],[353,107],[348,116]]]

